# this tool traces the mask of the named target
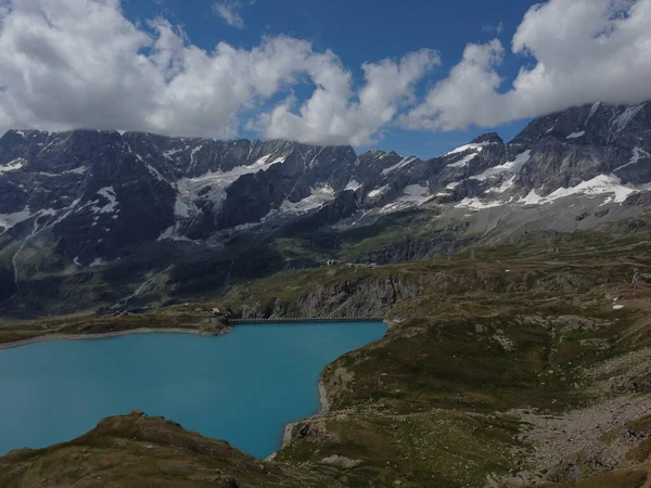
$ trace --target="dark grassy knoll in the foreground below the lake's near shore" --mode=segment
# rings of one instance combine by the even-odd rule
[[[256,460],[227,442],[141,412],[101,421],[88,434],[47,449],[0,458],[0,486],[34,488],[336,487],[299,467]]]

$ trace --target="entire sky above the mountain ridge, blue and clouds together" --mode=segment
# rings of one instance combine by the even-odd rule
[[[651,0],[0,0],[0,132],[289,139],[433,157],[651,100]]]

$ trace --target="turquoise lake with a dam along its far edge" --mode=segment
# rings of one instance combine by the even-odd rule
[[[381,322],[238,325],[219,337],[132,334],[0,350],[0,455],[140,409],[264,458],[285,424],[320,410],[323,367],[385,332]]]

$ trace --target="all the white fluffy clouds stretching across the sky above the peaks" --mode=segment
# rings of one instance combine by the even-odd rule
[[[238,1],[245,0],[219,4],[244,4]],[[419,81],[441,63],[436,51],[366,63],[355,80],[335,53],[301,39],[206,51],[165,18],[133,24],[119,0],[0,0],[0,131],[230,138],[245,124],[267,138],[366,145],[396,120],[454,130],[597,100],[635,103],[651,99],[649,18],[651,0],[550,0],[533,7],[513,37],[511,50],[531,63],[512,87],[505,89],[499,69],[508,53],[495,39],[469,44],[417,100]],[[292,97],[306,82],[311,94]]]

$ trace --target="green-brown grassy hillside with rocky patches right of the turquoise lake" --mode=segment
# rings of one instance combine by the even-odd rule
[[[420,262],[281,272],[214,303],[243,317],[387,318],[382,339],[326,368],[329,412],[291,426],[276,455],[272,466],[316,483],[304,486],[647,488],[650,258],[649,235],[576,233]],[[184,317],[192,326],[201,309],[120,320],[166,326]],[[35,451],[31,470],[56,474],[49,455]],[[0,479],[23,462],[3,459]],[[234,466],[220,470],[248,486]],[[120,483],[139,473],[127,467]]]

